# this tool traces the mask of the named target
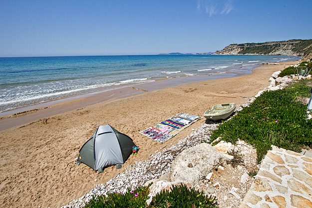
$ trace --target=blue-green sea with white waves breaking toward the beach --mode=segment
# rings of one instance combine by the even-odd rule
[[[144,82],[201,75],[247,74],[264,63],[300,58],[268,55],[0,58],[0,113]]]

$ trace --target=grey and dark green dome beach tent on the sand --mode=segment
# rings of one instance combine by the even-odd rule
[[[123,164],[136,146],[133,140],[110,125],[99,126],[81,147],[76,164],[84,163],[98,173],[107,166]]]

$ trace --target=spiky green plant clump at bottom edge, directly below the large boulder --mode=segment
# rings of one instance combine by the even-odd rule
[[[217,199],[207,197],[203,191],[194,188],[188,189],[186,185],[174,186],[157,194],[150,205],[152,208],[217,208]]]

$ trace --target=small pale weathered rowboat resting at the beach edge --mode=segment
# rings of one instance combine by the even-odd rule
[[[226,119],[234,112],[235,108],[235,103],[217,104],[212,109],[205,111],[204,117],[214,121]]]

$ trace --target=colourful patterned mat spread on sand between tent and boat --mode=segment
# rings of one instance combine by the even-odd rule
[[[154,141],[163,143],[201,118],[188,113],[179,113],[139,133]]]

